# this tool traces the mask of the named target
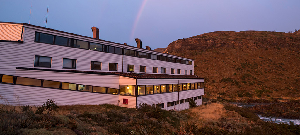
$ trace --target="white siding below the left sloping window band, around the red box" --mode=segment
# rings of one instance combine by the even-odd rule
[[[35,105],[41,106],[47,99],[55,100],[58,105],[118,105],[118,100],[128,98],[129,104],[119,104],[122,107],[135,108],[135,97],[119,96],[113,94],[99,94],[82,91],[59,90],[43,87],[0,84],[0,95],[10,105]],[[0,100],[1,104],[7,104]]]

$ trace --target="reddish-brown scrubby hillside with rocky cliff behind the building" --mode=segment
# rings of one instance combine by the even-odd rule
[[[300,35],[218,31],[179,39],[164,53],[195,60],[205,78],[205,97],[274,102],[300,99]]]

